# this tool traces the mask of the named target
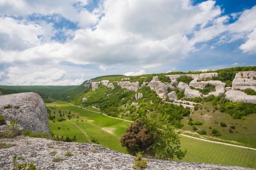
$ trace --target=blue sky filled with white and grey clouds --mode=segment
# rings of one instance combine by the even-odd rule
[[[0,0],[0,85],[256,65],[256,0]]]

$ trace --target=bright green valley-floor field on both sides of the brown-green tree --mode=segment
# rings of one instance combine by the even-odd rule
[[[52,111],[51,115],[56,116],[55,123],[49,120],[50,130],[59,137],[63,135],[65,139],[67,136],[73,138],[76,135],[76,142],[88,142],[85,135],[71,123],[74,122],[88,134],[91,140],[95,140],[94,143],[126,153],[119,140],[130,122],[106,117],[65,102],[49,103],[46,106]],[[88,109],[99,111],[91,107]],[[66,116],[70,111],[72,118],[58,122],[59,110]],[[54,111],[55,114],[53,114]],[[180,136],[180,140],[182,149],[187,149],[187,154],[182,161],[256,168],[256,150],[213,144],[183,136]],[[178,159],[174,160],[178,161]]]

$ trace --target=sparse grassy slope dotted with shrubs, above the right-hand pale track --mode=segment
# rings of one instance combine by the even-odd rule
[[[240,142],[239,145],[256,148],[256,114],[245,116],[243,119],[233,119],[229,114],[221,113],[219,110],[213,112],[214,108],[211,102],[204,102],[201,105],[202,109],[199,108],[198,111],[191,114],[192,122],[201,121],[203,123],[200,126],[195,125],[198,129],[204,129],[207,131],[207,135],[212,136],[210,127],[216,127],[221,134],[218,138],[237,141]],[[182,129],[195,132],[192,129],[193,126],[187,124],[187,120],[188,117],[182,119],[182,124],[184,124]],[[227,127],[221,127],[221,121],[227,124]],[[232,133],[229,132],[231,124],[235,126]]]

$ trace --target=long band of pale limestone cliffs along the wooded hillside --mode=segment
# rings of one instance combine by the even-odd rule
[[[171,100],[177,99],[176,92],[172,91],[168,93],[169,88],[179,88],[180,91],[184,90],[184,95],[186,98],[193,98],[193,97],[207,97],[208,95],[218,96],[220,93],[225,94],[227,99],[230,99],[232,102],[243,102],[243,103],[254,103],[256,104],[256,96],[247,95],[243,93],[242,90],[246,88],[251,88],[252,90],[256,91],[256,71],[244,71],[236,73],[235,78],[232,81],[232,87],[225,87],[226,84],[221,81],[217,80],[207,80],[212,79],[213,77],[218,77],[219,73],[201,73],[201,74],[185,74],[186,76],[192,77],[193,80],[186,84],[184,82],[177,81],[182,75],[166,75],[169,77],[171,82],[161,82],[158,80],[158,76],[153,76],[153,79],[150,82],[144,82],[143,84],[139,84],[139,82],[130,82],[128,80],[129,77],[123,79],[124,81],[117,82],[121,88],[125,88],[132,92],[137,92],[143,86],[149,86],[151,90],[155,91],[157,95],[163,99],[169,98]],[[109,88],[115,88],[112,83],[109,83],[108,80],[102,80],[101,82],[91,82],[92,89],[95,90],[99,87],[99,84],[103,84]],[[86,87],[89,85],[85,84]],[[214,86],[214,92],[209,93],[208,95],[203,95],[197,89],[203,89],[205,86],[210,85]],[[191,88],[192,87],[192,88]]]

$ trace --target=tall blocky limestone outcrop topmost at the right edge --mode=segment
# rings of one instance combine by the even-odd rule
[[[246,88],[252,88],[256,91],[256,71],[245,71],[236,73],[235,78],[232,81],[233,89],[245,90]]]

